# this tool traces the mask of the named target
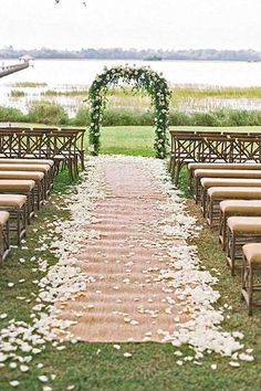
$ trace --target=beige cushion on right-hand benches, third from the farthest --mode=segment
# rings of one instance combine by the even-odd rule
[[[247,178],[202,178],[200,183],[203,188],[212,187],[261,187],[261,179],[247,179]]]

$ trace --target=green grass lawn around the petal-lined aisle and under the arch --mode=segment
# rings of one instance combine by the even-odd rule
[[[154,130],[150,127],[102,129],[104,154],[153,156],[153,142]],[[41,275],[32,271],[35,267],[33,262],[22,264],[19,258],[29,260],[34,255],[38,237],[46,229],[49,221],[56,216],[67,218],[66,212],[55,208],[55,204],[61,202],[56,193],[67,191],[67,186],[66,175],[55,179],[54,194],[29,226],[25,244],[29,249],[13,249],[11,256],[0,268],[0,314],[8,314],[8,319],[0,319],[0,329],[12,318],[30,320],[34,295],[38,294],[33,279],[40,278]],[[196,215],[199,223],[203,223],[194,201],[187,202],[190,213]],[[222,297],[219,304],[232,306],[232,310],[227,313],[230,318],[226,318],[223,328],[237,329],[246,335],[246,346],[254,349],[254,362],[243,362],[240,368],[233,369],[229,366],[229,359],[206,355],[200,367],[192,363],[179,367],[174,355],[175,348],[170,345],[122,344],[122,349],[117,351],[112,344],[79,342],[66,344],[66,349],[61,352],[48,344],[44,352],[33,359],[28,373],[21,373],[8,366],[0,369],[0,391],[13,390],[9,385],[9,381],[13,379],[20,381],[18,390],[42,391],[43,384],[36,378],[51,373],[56,376],[55,381],[49,383],[53,391],[66,391],[70,385],[75,385],[73,390],[76,391],[260,391],[261,311],[255,310],[252,318],[247,316],[247,307],[240,300],[240,276],[230,277],[217,234],[205,225],[200,236],[192,243],[198,245],[202,265],[220,272],[217,289]],[[51,253],[45,252],[42,256],[50,264],[55,263]],[[23,284],[18,283],[21,278],[25,279]],[[8,282],[13,282],[14,287],[8,288]],[[17,296],[25,296],[28,302],[18,300]],[[189,353],[189,347],[182,347],[181,350]],[[124,358],[125,351],[130,351],[133,357]],[[218,364],[217,370],[210,368],[213,362]],[[38,363],[43,363],[43,369],[38,369]]]

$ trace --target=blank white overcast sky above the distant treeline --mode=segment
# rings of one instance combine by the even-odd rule
[[[261,0],[0,0],[0,46],[261,51]]]

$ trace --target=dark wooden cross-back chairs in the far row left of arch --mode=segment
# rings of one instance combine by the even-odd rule
[[[72,179],[84,169],[85,129],[0,128],[0,158],[52,159],[56,171],[69,169]]]

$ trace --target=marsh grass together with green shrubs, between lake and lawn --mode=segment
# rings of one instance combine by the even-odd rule
[[[33,101],[35,94],[27,87],[34,87],[35,92],[39,88],[38,101]],[[9,104],[0,108],[0,121],[17,121],[19,117],[19,121],[41,124],[79,126],[90,124],[88,105],[83,104],[84,98],[87,97],[87,88],[71,86],[65,89],[46,89],[45,87],[48,87],[45,83],[17,83],[15,88],[9,93]],[[23,102],[21,109],[19,102]],[[251,109],[238,108],[237,103],[247,105]],[[255,104],[260,109],[255,108]],[[261,87],[175,86],[171,88],[169,124],[170,126],[260,125]],[[103,125],[154,125],[149,96],[144,91],[133,91],[130,87],[111,88],[107,93],[107,109],[104,113]]]

